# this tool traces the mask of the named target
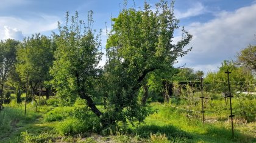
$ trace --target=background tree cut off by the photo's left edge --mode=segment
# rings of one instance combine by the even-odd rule
[[[0,42],[0,105],[2,105],[4,84],[16,62],[16,47],[18,41],[7,39]]]

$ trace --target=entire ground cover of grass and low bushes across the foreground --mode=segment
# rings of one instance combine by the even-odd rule
[[[105,130],[84,106],[41,106],[35,112],[29,105],[24,116],[24,108],[10,105],[0,113],[0,142],[256,142],[255,122],[235,119],[232,138],[228,118],[211,121],[212,115],[206,114],[202,124],[200,113],[188,114],[172,105],[152,103],[156,112],[143,124],[120,123]]]

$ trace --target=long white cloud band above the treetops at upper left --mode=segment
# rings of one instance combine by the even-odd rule
[[[0,39],[8,38],[11,35],[10,32],[23,33],[24,36],[48,32],[57,28],[57,21],[60,21],[57,16],[49,15],[40,15],[31,19],[2,16],[0,17]]]

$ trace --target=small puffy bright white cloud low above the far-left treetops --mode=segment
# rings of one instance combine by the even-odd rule
[[[4,39],[16,39],[21,41],[23,38],[24,36],[21,30],[4,26]]]

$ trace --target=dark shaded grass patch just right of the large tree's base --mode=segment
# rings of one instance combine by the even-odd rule
[[[179,140],[180,142],[187,142],[188,139],[192,139],[193,136],[189,133],[180,130],[172,125],[158,126],[158,125],[142,125],[135,129],[135,133],[142,138],[149,138],[151,133],[157,135],[163,135],[165,133],[166,137],[171,140]]]

